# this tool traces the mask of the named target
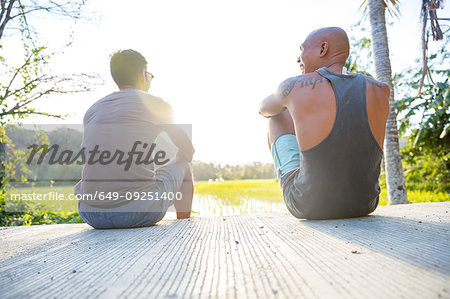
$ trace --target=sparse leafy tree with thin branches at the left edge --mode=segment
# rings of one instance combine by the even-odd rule
[[[35,102],[50,95],[89,91],[94,85],[101,83],[98,76],[92,74],[52,73],[49,64],[59,52],[51,52],[43,42],[42,32],[34,27],[38,19],[48,22],[83,18],[80,12],[83,5],[85,0],[0,0],[0,225],[48,223],[48,219],[60,221],[67,217],[74,221],[80,220],[77,214],[31,215],[5,212],[5,174],[14,176],[18,167],[21,168],[20,159],[24,153],[14,152],[10,148],[17,161],[5,159],[5,147],[10,144],[4,134],[4,125],[32,114],[62,117],[38,110]],[[67,36],[71,36],[71,33],[68,32]],[[20,42],[21,48],[17,47],[17,42]],[[65,47],[70,45],[71,42],[68,41]],[[17,55],[23,55],[22,62],[14,60]],[[26,169],[21,170],[26,173]],[[71,221],[69,218],[67,219]]]

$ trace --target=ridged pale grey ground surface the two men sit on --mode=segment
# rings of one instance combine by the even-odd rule
[[[0,228],[0,297],[450,298],[449,211],[446,202],[332,221]]]

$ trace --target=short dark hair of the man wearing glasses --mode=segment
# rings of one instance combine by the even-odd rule
[[[139,73],[147,67],[147,60],[135,50],[119,50],[111,56],[111,76],[117,86],[134,86]]]

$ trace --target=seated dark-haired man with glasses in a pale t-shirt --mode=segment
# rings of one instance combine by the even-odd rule
[[[194,148],[188,130],[175,125],[169,103],[148,93],[153,75],[139,52],[115,52],[110,68],[119,91],[84,116],[87,157],[75,186],[80,216],[101,229],[150,226],[174,204],[178,219],[189,218]],[[173,157],[158,149],[161,135],[177,148]]]

